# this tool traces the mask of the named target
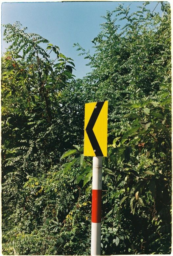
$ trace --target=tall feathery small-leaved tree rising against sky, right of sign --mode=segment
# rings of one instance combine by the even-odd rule
[[[96,49],[93,56],[75,44],[82,50],[80,54],[87,54],[85,58],[93,68],[84,79],[92,88],[91,100],[109,100],[110,131],[119,128],[128,111],[122,102],[151,99],[160,90],[160,83],[171,83],[170,9],[162,3],[167,14],[160,17],[146,9],[148,3],[132,14],[130,6],[124,9],[123,4],[108,11],[102,31],[92,41]],[[127,21],[124,27],[118,24],[118,17]]]

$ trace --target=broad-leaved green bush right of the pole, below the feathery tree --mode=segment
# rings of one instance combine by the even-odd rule
[[[151,254],[153,251],[157,254],[170,253],[171,98],[170,93],[166,99],[161,95],[160,91],[158,101],[128,102],[130,110],[135,109],[138,118],[130,117],[129,122],[126,121],[127,131],[122,120],[120,136],[109,145],[108,157],[104,159],[103,191],[107,192],[102,197],[102,253],[106,255],[110,252],[115,254],[117,250],[124,254],[138,254],[138,250],[139,254]],[[143,124],[148,124],[148,121],[150,125],[146,128]],[[86,191],[90,188],[89,177],[92,175],[91,167],[88,168],[90,162],[84,157],[77,179],[79,182],[84,180],[83,186],[88,184]],[[132,224],[127,226],[125,220]],[[108,230],[112,231],[111,226],[116,231],[110,233],[118,234],[116,239],[111,238],[111,234],[104,236]],[[144,231],[138,234],[141,229]],[[114,243],[116,246],[119,244],[118,249],[114,249]]]

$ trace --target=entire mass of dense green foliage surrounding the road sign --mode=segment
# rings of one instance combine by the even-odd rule
[[[74,44],[92,68],[83,79],[58,46],[19,22],[5,25],[4,255],[90,255],[84,105],[103,100],[109,113],[101,253],[171,253],[170,5],[161,2],[162,17],[147,5],[132,14],[123,4],[107,11],[93,56]]]

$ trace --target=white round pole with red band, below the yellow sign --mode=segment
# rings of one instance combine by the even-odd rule
[[[103,156],[93,157],[91,255],[101,255],[101,205]]]

